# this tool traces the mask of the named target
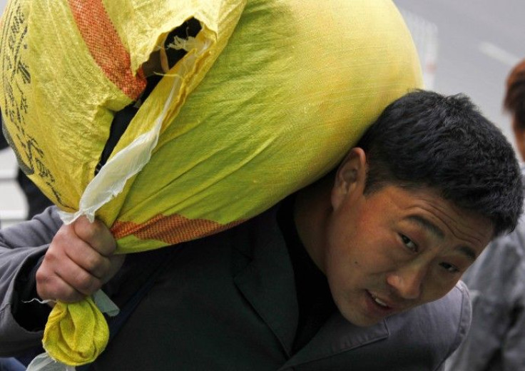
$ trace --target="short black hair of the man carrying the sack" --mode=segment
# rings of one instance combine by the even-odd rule
[[[385,108],[357,147],[367,154],[365,193],[388,184],[429,187],[491,220],[494,236],[514,230],[523,203],[516,155],[467,96],[408,93]]]

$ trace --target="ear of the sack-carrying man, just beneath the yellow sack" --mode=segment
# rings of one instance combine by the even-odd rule
[[[352,148],[337,169],[332,188],[332,208],[338,208],[343,200],[362,195],[367,178],[367,156],[362,148]]]

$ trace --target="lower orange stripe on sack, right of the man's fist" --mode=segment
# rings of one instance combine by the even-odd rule
[[[118,240],[127,235],[134,235],[141,240],[160,240],[175,245],[195,238],[213,235],[243,223],[237,220],[220,224],[206,219],[189,219],[182,215],[156,215],[145,223],[121,222],[117,220],[111,227],[111,233]]]

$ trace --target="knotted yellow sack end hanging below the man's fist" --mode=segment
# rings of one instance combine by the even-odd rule
[[[66,365],[79,366],[96,360],[108,344],[106,318],[91,298],[78,303],[58,302],[44,330],[44,350]]]

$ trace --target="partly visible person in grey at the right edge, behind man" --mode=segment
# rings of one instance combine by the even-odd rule
[[[525,60],[507,78],[504,108],[525,159]],[[521,171],[525,176],[525,166]],[[447,370],[525,370],[525,220],[493,240],[463,280],[471,292],[472,327]]]

